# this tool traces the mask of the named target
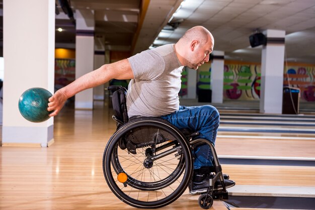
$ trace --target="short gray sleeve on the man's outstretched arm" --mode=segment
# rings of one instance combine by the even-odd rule
[[[153,51],[145,50],[128,58],[134,79],[153,80],[159,77],[165,69],[163,57]]]

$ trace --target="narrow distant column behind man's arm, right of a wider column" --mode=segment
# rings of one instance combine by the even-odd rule
[[[104,36],[95,37],[94,69],[105,64],[105,39]],[[93,88],[93,99],[104,100],[104,84]]]

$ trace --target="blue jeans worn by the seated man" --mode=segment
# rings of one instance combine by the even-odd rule
[[[217,129],[219,127],[219,112],[210,105],[198,107],[180,106],[179,110],[166,116],[163,119],[169,121],[178,129],[190,129],[192,132],[199,132],[196,138],[209,140],[215,143]],[[213,156],[208,145],[200,145],[193,150],[194,169],[203,166],[212,166]]]

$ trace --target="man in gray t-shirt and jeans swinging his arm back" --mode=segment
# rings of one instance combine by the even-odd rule
[[[69,85],[57,90],[49,98],[48,111],[55,116],[66,99],[74,94],[111,79],[131,79],[128,85],[127,110],[132,116],[162,117],[179,129],[198,131],[198,138],[214,144],[219,126],[219,113],[210,106],[179,106],[178,93],[181,88],[181,73],[184,66],[197,70],[209,61],[213,51],[212,34],[202,26],[189,29],[176,43],[146,50],[112,64],[105,64]],[[194,174],[189,185],[191,194],[206,192],[209,186],[212,154],[208,145],[194,149]],[[226,187],[235,183],[224,175]],[[220,189],[216,182],[215,189]]]

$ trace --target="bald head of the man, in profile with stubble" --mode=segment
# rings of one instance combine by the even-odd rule
[[[198,69],[204,62],[209,61],[213,51],[214,38],[203,26],[195,26],[186,31],[175,44],[176,55],[182,65]]]

